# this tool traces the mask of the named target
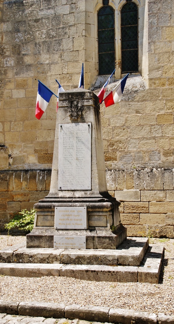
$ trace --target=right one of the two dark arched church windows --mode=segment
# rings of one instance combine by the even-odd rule
[[[121,72],[138,72],[138,7],[133,2],[121,9]]]

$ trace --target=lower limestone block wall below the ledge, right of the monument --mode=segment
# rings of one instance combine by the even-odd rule
[[[107,170],[128,236],[174,237],[174,169]]]

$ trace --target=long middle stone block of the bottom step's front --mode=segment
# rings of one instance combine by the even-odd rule
[[[60,276],[90,281],[137,282],[138,267],[104,265],[63,265]]]

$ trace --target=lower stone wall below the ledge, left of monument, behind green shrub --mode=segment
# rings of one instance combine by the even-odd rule
[[[0,171],[0,231],[22,209],[49,193],[51,170]]]

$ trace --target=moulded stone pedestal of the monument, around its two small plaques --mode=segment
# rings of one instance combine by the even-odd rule
[[[120,222],[118,208],[120,203],[113,197],[110,200],[107,198],[82,198],[78,202],[72,200],[69,202],[68,199],[64,199],[63,202],[60,199],[53,199],[50,202],[50,198],[40,200],[34,206],[35,223],[32,232],[26,236],[27,248],[54,248],[54,236],[72,236],[75,237],[75,241],[76,237],[81,236],[85,237],[86,249],[117,249],[127,238],[127,228]],[[87,228],[56,228],[55,208],[60,207],[62,210],[67,207],[86,207]]]

